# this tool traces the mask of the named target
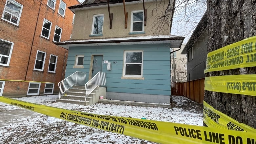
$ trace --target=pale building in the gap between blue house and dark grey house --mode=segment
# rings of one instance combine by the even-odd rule
[[[184,49],[184,47],[185,44],[182,44],[181,50],[171,53],[172,82],[187,81],[187,56],[181,54],[181,51]]]

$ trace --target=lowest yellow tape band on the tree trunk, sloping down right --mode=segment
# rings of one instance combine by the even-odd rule
[[[203,101],[203,122],[208,127],[253,132],[256,134],[256,129],[243,123],[239,123],[237,120],[215,110],[205,101]]]

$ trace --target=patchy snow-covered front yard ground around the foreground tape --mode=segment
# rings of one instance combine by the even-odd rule
[[[203,105],[193,102],[184,96],[172,96],[172,108],[153,108],[139,106],[122,106],[96,103],[90,106],[81,106],[68,103],[57,103],[58,95],[32,96],[17,98],[32,103],[44,104],[53,107],[82,111],[95,114],[133,117],[158,121],[191,124],[203,126]],[[6,117],[5,112],[18,111],[21,108],[0,102],[0,117]],[[23,109],[22,109],[23,110]],[[24,115],[26,116],[24,116]],[[11,114],[13,116],[15,114]],[[1,121],[1,120],[0,120]],[[0,125],[0,143],[28,144],[155,144],[122,134],[115,134],[88,126],[75,124],[40,113],[25,110],[17,116]],[[1,123],[2,123],[1,122]]]

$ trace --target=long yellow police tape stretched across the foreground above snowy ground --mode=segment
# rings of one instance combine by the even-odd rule
[[[236,142],[240,142],[240,144],[255,144],[256,142],[256,134],[251,132],[84,113],[24,102],[3,96],[0,97],[0,102],[74,123],[163,144],[235,144]]]

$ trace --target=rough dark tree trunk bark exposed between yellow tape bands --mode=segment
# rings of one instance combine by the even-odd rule
[[[256,35],[256,0],[207,0],[208,52]],[[208,72],[205,76],[255,74],[256,67]],[[205,91],[204,101],[256,128],[256,96]]]

